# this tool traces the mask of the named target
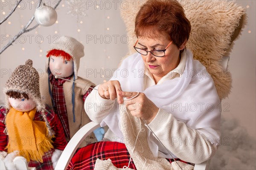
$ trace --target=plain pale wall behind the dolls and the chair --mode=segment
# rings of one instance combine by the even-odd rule
[[[45,3],[49,4],[48,2],[49,1],[45,1]],[[57,1],[52,0],[52,6],[56,2]],[[9,74],[14,71],[17,65],[24,64],[26,59],[32,59],[34,61],[34,67],[44,71],[45,55],[49,50],[49,43],[52,43],[53,40],[57,38],[54,37],[55,35],[68,35],[75,37],[83,43],[85,56],[80,62],[80,77],[90,79],[96,84],[102,83],[104,79],[108,80],[108,78],[101,77],[100,74],[97,74],[96,76],[93,74],[89,75],[88,73],[90,72],[88,71],[91,71],[90,69],[93,69],[93,71],[96,69],[96,71],[100,73],[102,67],[110,70],[117,68],[119,60],[125,56],[128,51],[127,44],[125,44],[125,37],[123,37],[122,40],[120,39],[121,36],[126,34],[125,25],[119,14],[121,3],[116,3],[117,8],[115,8],[114,3],[111,3],[112,7],[108,9],[109,6],[107,6],[108,4],[105,4],[104,6],[104,1],[90,2],[93,3],[93,6],[84,10],[84,12],[87,13],[87,17],[80,17],[77,20],[76,17],[67,14],[67,3],[63,0],[57,10],[58,24],[50,27],[36,28],[35,30],[26,33],[17,43],[14,43],[1,54],[1,102],[4,102],[2,93],[3,87],[5,86],[7,79],[9,79]],[[96,8],[97,4],[95,2],[99,5],[99,8]],[[1,20],[7,13],[9,13],[14,3],[15,0],[5,2],[1,0]],[[102,9],[100,3],[102,3]],[[230,54],[229,69],[233,76],[233,89],[229,98],[223,100],[223,108],[226,108],[227,106],[229,106],[229,108],[227,108],[227,112],[222,113],[222,116],[227,119],[238,119],[241,125],[246,127],[249,134],[255,138],[256,1],[238,0],[237,3],[245,8],[247,5],[249,6],[249,8],[247,8],[248,23],[244,28],[240,39],[234,42],[233,51]],[[64,7],[61,6],[63,4]],[[3,11],[6,12],[5,15],[3,15]],[[0,26],[1,48],[8,42],[8,40],[5,40],[5,35],[9,34],[11,37],[14,37],[14,35],[20,31],[21,25],[25,25],[30,17],[32,17],[34,11],[35,3],[31,4],[31,1],[24,1],[9,20]],[[23,17],[20,17],[21,15],[23,15]],[[107,18],[108,16],[109,19]],[[9,21],[11,24],[8,24]],[[81,24],[80,21],[83,21],[83,23]],[[32,25],[35,25],[35,22],[33,22]],[[109,30],[107,30],[107,28],[109,28]],[[81,31],[78,32],[78,29]],[[35,34],[35,31],[38,31],[38,33]],[[55,31],[58,31],[58,33],[55,34]],[[251,31],[251,33],[249,34],[248,31]],[[91,38],[91,36],[93,37],[93,40],[88,39]],[[101,36],[102,38],[100,38]],[[29,37],[32,37],[31,41],[29,41]],[[44,41],[38,43],[41,41],[41,37],[43,37]],[[112,41],[108,44],[109,37],[112,38]],[[116,42],[115,37],[117,37]],[[24,41],[24,38],[26,41]],[[96,42],[94,42],[94,40],[96,40]],[[100,42],[101,40],[102,42]],[[22,48],[25,48],[25,50],[23,51]],[[42,52],[40,52],[40,49]],[[42,55],[41,57],[40,54]],[[108,56],[110,57],[109,59]],[[102,71],[102,73],[108,75],[108,71],[109,70],[105,72]]]

